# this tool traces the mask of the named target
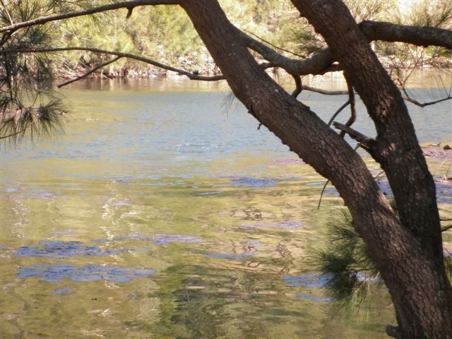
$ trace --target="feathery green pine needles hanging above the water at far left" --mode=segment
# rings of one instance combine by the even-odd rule
[[[9,4],[11,5],[11,4]],[[57,11],[71,10],[69,1],[18,1],[4,6],[1,25],[30,20]],[[49,47],[49,28],[32,26],[1,37],[8,50]],[[18,142],[24,136],[39,138],[62,126],[64,107],[53,90],[52,58],[49,54],[0,54],[0,138]]]

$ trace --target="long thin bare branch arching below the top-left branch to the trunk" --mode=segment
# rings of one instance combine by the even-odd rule
[[[146,64],[151,64],[153,66],[159,67],[160,69],[166,69],[167,71],[173,71],[177,72],[181,75],[187,76],[191,80],[201,80],[201,81],[218,81],[225,78],[222,74],[218,76],[200,76],[195,73],[191,73],[189,71],[185,71],[184,69],[177,69],[172,66],[168,66],[165,64],[161,64],[158,61],[155,61],[153,59],[140,57],[138,55],[129,54],[129,53],[123,53],[123,52],[114,52],[114,51],[107,51],[105,49],[98,49],[98,48],[92,48],[92,47],[57,47],[57,48],[36,48],[36,49],[0,49],[0,53],[48,53],[48,52],[66,52],[66,51],[88,51],[93,53],[100,53],[100,54],[110,54],[110,55],[116,55],[117,57],[121,58],[129,58],[137,61],[145,62]]]

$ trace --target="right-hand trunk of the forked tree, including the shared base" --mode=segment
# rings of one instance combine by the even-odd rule
[[[400,91],[341,1],[292,2],[323,35],[374,120],[377,136],[369,152],[386,172],[410,233],[403,242],[411,242],[423,265],[432,268],[423,276],[419,266],[381,263],[402,338],[452,338],[452,289],[444,272],[434,181]]]

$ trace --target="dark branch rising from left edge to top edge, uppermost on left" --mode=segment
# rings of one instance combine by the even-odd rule
[[[64,20],[69,18],[76,18],[77,16],[88,16],[94,13],[100,13],[105,11],[112,11],[119,8],[133,8],[136,6],[146,6],[146,5],[177,5],[180,1],[177,0],[133,0],[133,1],[122,1],[117,4],[108,4],[104,6],[98,6],[93,8],[84,9],[83,11],[74,11],[64,14],[57,14],[55,16],[41,16],[40,18],[35,18],[28,21],[23,21],[22,23],[16,23],[6,27],[0,28],[0,32],[14,31],[19,28],[30,27],[34,25],[42,25],[43,23],[48,23],[49,21]]]

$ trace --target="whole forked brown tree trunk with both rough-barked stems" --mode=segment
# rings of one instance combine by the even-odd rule
[[[371,154],[388,173],[401,222],[350,145],[259,68],[217,1],[185,0],[182,7],[249,112],[338,189],[391,292],[400,338],[452,338],[452,290],[444,272],[432,176],[396,86],[364,35],[354,32],[356,23],[347,22],[352,27],[343,32],[343,17],[347,21],[350,13],[326,13],[329,2],[294,1],[299,8],[312,7],[310,14],[324,22],[312,20],[322,34],[343,33],[335,37],[338,42],[326,40],[375,121],[379,135]]]

